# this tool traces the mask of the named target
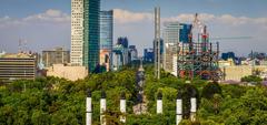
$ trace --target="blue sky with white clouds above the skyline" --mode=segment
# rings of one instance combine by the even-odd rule
[[[221,51],[246,55],[266,52],[267,0],[102,0],[101,10],[115,9],[115,40],[128,37],[139,51],[152,45],[152,10],[161,8],[162,21],[190,22],[200,14],[212,38],[253,37],[219,41]],[[125,19],[123,17],[129,17]],[[1,0],[0,51],[17,52],[19,39],[32,51],[70,46],[70,0]],[[142,53],[142,52],[140,52]]]

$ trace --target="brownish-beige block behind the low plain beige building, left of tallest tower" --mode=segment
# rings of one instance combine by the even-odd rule
[[[42,51],[42,62],[46,67],[52,66],[52,64],[70,63],[70,51],[63,48]]]

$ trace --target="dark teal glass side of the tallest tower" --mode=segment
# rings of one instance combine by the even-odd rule
[[[100,0],[83,1],[83,66],[93,72],[99,64]]]

